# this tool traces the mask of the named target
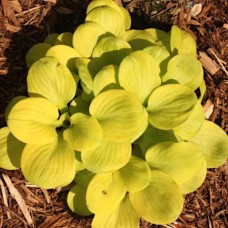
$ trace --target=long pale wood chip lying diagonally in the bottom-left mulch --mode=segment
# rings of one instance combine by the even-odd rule
[[[28,224],[31,225],[33,220],[28,210],[28,206],[25,204],[24,199],[22,198],[21,194],[18,190],[14,187],[13,183],[11,182],[10,178],[6,174],[2,174],[2,177],[9,189],[11,196],[17,201],[18,206],[20,207],[25,219],[27,220]]]

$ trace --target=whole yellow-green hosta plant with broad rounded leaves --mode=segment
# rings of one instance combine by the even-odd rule
[[[125,8],[93,0],[73,34],[34,45],[28,97],[9,103],[0,129],[0,166],[41,188],[74,183],[67,203],[94,228],[175,221],[228,155],[226,133],[204,119],[192,36],[130,26]]]

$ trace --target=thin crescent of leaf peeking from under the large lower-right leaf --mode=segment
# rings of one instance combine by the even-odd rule
[[[192,177],[189,181],[179,185],[181,192],[183,194],[189,194],[191,192],[194,192],[197,188],[199,188],[203,184],[203,182],[206,179],[206,175],[207,175],[207,163],[206,161],[204,161],[204,165],[194,177]]]

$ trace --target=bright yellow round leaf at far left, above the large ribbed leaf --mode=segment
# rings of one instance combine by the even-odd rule
[[[41,97],[17,102],[8,114],[7,125],[12,134],[24,143],[44,144],[57,137],[60,126],[57,107]]]

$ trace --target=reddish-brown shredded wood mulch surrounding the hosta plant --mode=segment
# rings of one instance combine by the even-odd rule
[[[116,0],[117,1],[117,0]],[[207,93],[203,104],[208,118],[228,133],[228,1],[227,0],[118,0],[130,12],[132,27],[169,30],[172,24],[190,32],[198,44],[204,66]],[[89,0],[1,0],[0,5],[0,127],[4,110],[17,95],[26,94],[25,55],[35,43],[51,32],[74,31],[83,22]],[[192,7],[202,3],[202,11],[192,15]],[[16,201],[10,185],[25,203]],[[228,163],[208,170],[205,183],[185,196],[179,219],[160,227],[228,227]],[[0,227],[90,227],[91,217],[70,212],[66,191],[42,190],[29,185],[20,171],[0,169]],[[23,214],[29,210],[32,225]],[[141,227],[158,227],[145,221]]]

